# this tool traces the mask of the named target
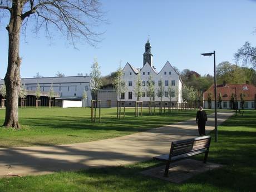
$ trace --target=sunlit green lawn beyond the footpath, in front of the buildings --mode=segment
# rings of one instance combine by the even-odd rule
[[[99,111],[99,110],[98,110]],[[0,110],[0,125],[4,121]],[[116,109],[102,109],[101,123],[91,122],[91,109],[27,108],[19,109],[21,130],[1,129],[0,147],[58,145],[109,139],[172,124],[195,117],[195,111],[135,117],[134,109],[126,109],[124,120],[116,119]]]

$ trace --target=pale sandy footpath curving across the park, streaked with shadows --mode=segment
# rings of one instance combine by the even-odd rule
[[[218,124],[231,115],[231,112],[219,112]],[[206,132],[213,129],[214,115],[211,114]],[[168,153],[171,141],[197,135],[195,119],[191,119],[114,139],[57,146],[0,148],[0,176],[39,175],[60,170],[132,164]]]

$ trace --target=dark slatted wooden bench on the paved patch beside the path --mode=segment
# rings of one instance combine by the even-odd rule
[[[153,159],[166,162],[164,176],[168,177],[169,166],[173,161],[205,153],[204,163],[206,163],[211,137],[202,136],[192,139],[171,142],[170,153],[153,157]]]

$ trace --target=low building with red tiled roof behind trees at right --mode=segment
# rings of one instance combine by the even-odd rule
[[[244,84],[226,84],[217,85],[217,107],[220,109],[233,109],[235,102],[235,91],[237,91],[237,102],[238,109],[242,109],[241,94],[244,100],[244,109],[255,109],[255,97],[256,97],[256,87],[248,83]],[[221,103],[218,102],[219,93],[221,94]],[[208,101],[209,96],[211,97],[211,102]],[[234,102],[232,102],[232,97]],[[203,94],[203,102],[205,109],[214,109],[214,85]],[[210,104],[210,106],[209,106]]]

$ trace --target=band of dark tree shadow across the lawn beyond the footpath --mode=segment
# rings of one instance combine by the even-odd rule
[[[21,122],[26,123],[29,126],[42,126],[53,129],[87,129],[87,130],[116,130],[116,131],[131,131],[140,132],[162,125],[168,125],[179,120],[183,120],[184,117],[173,117],[165,116],[151,117],[151,119],[142,117],[135,118],[129,117],[123,120],[117,120],[113,118],[105,117],[101,119],[102,122],[91,122],[91,119],[85,119],[83,117],[63,117],[63,116],[51,116],[46,119],[42,118],[22,118]]]

